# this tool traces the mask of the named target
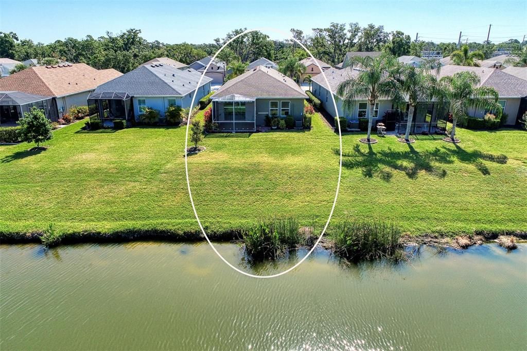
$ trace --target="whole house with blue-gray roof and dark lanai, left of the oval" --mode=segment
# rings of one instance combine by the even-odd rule
[[[125,119],[139,121],[147,108],[158,110],[161,119],[170,105],[190,108],[201,74],[164,64],[141,65],[133,71],[97,86],[88,96],[88,108],[101,121]],[[196,94],[196,105],[210,93],[212,79],[203,77]]]

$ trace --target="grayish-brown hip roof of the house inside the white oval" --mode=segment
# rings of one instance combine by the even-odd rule
[[[306,93],[295,81],[280,72],[258,66],[247,71],[227,83],[214,93],[212,99],[238,94],[248,98],[301,98],[306,99]]]

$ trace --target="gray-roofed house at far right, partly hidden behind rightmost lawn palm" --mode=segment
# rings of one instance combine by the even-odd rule
[[[469,71],[477,74],[477,76],[480,77],[480,86],[491,86],[496,89],[500,96],[498,102],[502,105],[503,112],[508,115],[505,124],[516,124],[518,117],[525,112],[527,81],[498,69],[456,65],[446,65],[441,67],[438,78],[454,75],[455,73],[462,71]],[[484,109],[471,108],[468,111],[469,116],[476,118],[483,118],[486,113],[487,111]]]

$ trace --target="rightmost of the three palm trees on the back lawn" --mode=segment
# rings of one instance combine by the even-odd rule
[[[448,101],[448,112],[452,113],[450,141],[456,141],[454,137],[457,121],[465,119],[467,108],[471,106],[495,111],[496,116],[501,118],[502,107],[497,103],[497,91],[491,86],[476,87],[480,84],[480,77],[474,72],[457,72],[452,76],[442,77],[439,83],[437,96],[440,100]]]

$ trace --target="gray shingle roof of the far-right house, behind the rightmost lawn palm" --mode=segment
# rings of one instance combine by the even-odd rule
[[[457,72],[474,72],[480,77],[480,86],[492,86],[500,98],[523,98],[527,96],[527,81],[503,71],[485,67],[446,65],[441,67],[439,78]]]

